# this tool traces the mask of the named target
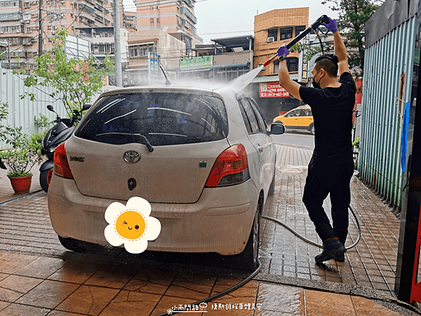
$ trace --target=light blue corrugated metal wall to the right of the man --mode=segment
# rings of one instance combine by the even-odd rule
[[[416,23],[413,16],[368,47],[364,64],[359,171],[396,206],[402,204],[403,109],[411,98]]]

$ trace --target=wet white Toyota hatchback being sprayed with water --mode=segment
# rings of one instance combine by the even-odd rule
[[[276,150],[259,106],[232,88],[102,93],[55,150],[51,223],[70,250],[108,245],[105,210],[142,197],[161,232],[148,250],[216,252],[253,270]]]

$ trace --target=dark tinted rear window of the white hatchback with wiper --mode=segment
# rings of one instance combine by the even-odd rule
[[[203,143],[227,137],[220,98],[189,93],[126,93],[109,96],[79,124],[75,135],[100,143],[152,146]]]

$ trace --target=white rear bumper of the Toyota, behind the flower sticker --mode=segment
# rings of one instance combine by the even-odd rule
[[[240,185],[205,188],[194,204],[151,203],[150,216],[161,222],[161,232],[148,250],[239,254],[246,246],[259,192],[252,180]],[[61,237],[108,245],[105,210],[112,199],[81,195],[74,180],[53,175],[48,209]]]

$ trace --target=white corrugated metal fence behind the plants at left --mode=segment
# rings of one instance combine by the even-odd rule
[[[10,70],[0,69],[0,100],[8,103],[8,116],[6,121],[1,123],[12,127],[22,126],[22,131],[28,135],[40,133],[34,124],[34,117],[44,114],[48,119],[53,121],[55,114],[47,110],[47,105],[53,105],[55,112],[61,117],[65,117],[66,111],[61,100],[54,100],[48,96],[50,88],[30,87],[24,84],[25,75],[13,74]],[[29,98],[21,99],[20,96],[25,92],[34,93],[36,101]],[[5,143],[0,142],[0,149],[5,149]]]

